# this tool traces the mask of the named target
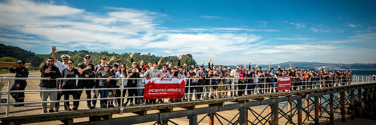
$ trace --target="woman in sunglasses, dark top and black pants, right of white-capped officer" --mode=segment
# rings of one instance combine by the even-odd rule
[[[79,77],[82,77],[82,69],[73,68],[73,60],[68,60],[68,68],[65,68],[61,71],[62,78],[76,78],[76,75]],[[59,89],[77,89],[76,80],[61,80],[59,84]],[[73,99],[77,98],[77,91],[62,91],[64,93],[64,100],[69,100],[69,95],[73,96]],[[79,101],[73,102],[73,111],[77,110],[77,104]],[[72,109],[69,106],[69,102],[65,102],[65,105],[67,105],[67,111],[72,111]]]

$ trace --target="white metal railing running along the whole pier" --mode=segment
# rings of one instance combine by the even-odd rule
[[[4,75],[0,75],[0,77],[3,77]],[[360,79],[359,77],[360,76],[353,76],[353,80],[354,81],[359,81],[359,80],[368,80],[368,81],[373,81],[370,77],[366,77],[364,79],[364,76],[362,76],[362,78]],[[299,78],[303,78],[303,77],[299,77]],[[311,78],[314,78],[314,77],[311,77]],[[310,80],[311,78],[308,78],[308,80]],[[316,77],[316,78],[320,78],[320,77]],[[352,79],[352,77],[350,77]],[[16,91],[10,91],[10,87],[11,87],[11,80],[16,80],[16,79],[22,79],[22,80],[43,80],[45,78],[0,78],[0,80],[4,80],[4,79],[8,79],[8,90],[7,91],[0,91],[0,93],[8,93],[7,95],[7,103],[6,104],[0,104],[0,105],[6,105],[7,106],[7,112],[6,112],[6,117],[9,116],[9,105],[12,105],[12,104],[33,104],[33,103],[47,103],[47,102],[67,102],[67,101],[87,101],[87,100],[101,100],[101,99],[123,99],[123,98],[142,98],[143,96],[128,96],[128,97],[123,97],[121,94],[121,97],[112,97],[112,98],[94,98],[94,99],[73,99],[73,100],[59,100],[59,101],[36,101],[36,102],[18,102],[18,103],[10,103],[10,93],[11,92],[55,92],[55,91],[76,91],[76,90],[113,90],[113,89],[121,89],[121,92],[123,92],[124,89],[144,89],[144,87],[127,87],[127,88],[123,88],[123,86],[120,86],[120,88],[97,88],[97,89],[61,89],[61,90],[16,90]],[[103,79],[107,79],[107,78],[56,78],[55,80],[86,80],[86,79],[96,79],[96,80],[103,80]],[[128,80],[128,79],[133,79],[133,80],[144,80],[145,78],[111,78],[112,80]],[[239,89],[236,89],[234,88],[235,85],[249,85],[249,84],[276,84],[277,82],[273,82],[273,83],[243,83],[243,84],[234,84],[234,81],[235,79],[240,79],[240,78],[226,78],[226,79],[232,79],[232,83],[231,84],[217,84],[217,85],[200,85],[200,86],[191,86],[191,79],[200,79],[200,78],[186,78],[186,80],[188,81],[188,86],[185,86],[185,87],[188,87],[188,93],[185,93],[184,95],[191,95],[191,94],[203,94],[203,93],[216,93],[216,92],[233,92],[235,93],[235,91],[246,91],[246,90],[262,90],[262,89],[276,89],[277,87],[264,87],[264,88],[259,88],[259,89],[242,89],[242,90],[239,90]],[[224,80],[223,78],[206,78],[208,80],[210,79],[221,79],[221,80]],[[250,79],[250,78],[246,78],[246,79]],[[263,79],[267,79],[267,78],[263,78]],[[313,84],[310,84],[310,85],[298,85],[298,86],[293,86],[293,84],[291,84],[291,87],[307,87],[307,86],[321,86],[323,84],[322,81],[335,81],[334,83],[332,82],[331,85],[333,86],[333,84],[345,84],[345,83],[349,83],[349,82],[352,82],[352,81],[347,81],[347,80],[350,80],[350,79],[339,79],[339,80],[316,80],[316,81],[291,81],[291,83],[305,83],[305,82],[317,82],[317,84],[313,85]],[[339,81],[339,82],[336,82],[336,81]],[[328,85],[329,84],[324,84],[324,85]],[[196,92],[196,93],[193,93],[193,92],[190,92],[190,87],[206,87],[206,86],[232,86],[233,90],[222,90],[222,91],[215,91],[215,92]],[[190,101],[190,97],[188,97],[188,101]],[[122,103],[122,102],[121,102]]]

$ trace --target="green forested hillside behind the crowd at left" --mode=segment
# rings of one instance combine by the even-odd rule
[[[31,51],[23,50],[20,47],[13,47],[13,46],[6,46],[4,44],[0,44],[0,58],[1,57],[14,57],[17,59],[22,59],[25,60],[26,63],[31,63],[32,67],[40,67],[44,65],[45,61],[47,58],[51,57],[51,54],[35,54],[32,53]],[[46,50],[47,51],[47,50]],[[51,51],[51,50],[49,50]],[[91,56],[90,63],[93,63],[94,65],[97,65],[100,63],[100,59],[102,57],[106,57],[107,61],[111,59],[111,57],[115,57],[115,60],[111,62],[111,64],[115,64],[116,60],[120,59],[123,63],[126,64],[127,68],[130,68],[130,65],[132,62],[130,62],[130,57],[129,53],[122,53],[122,54],[117,54],[117,53],[108,53],[107,51],[103,51],[100,53],[97,52],[89,52],[86,50],[80,50],[80,51],[56,51],[56,59],[61,61],[60,56],[62,54],[67,54],[69,55],[75,65],[77,65],[80,62],[83,62],[83,57],[86,54],[89,54]],[[173,62],[174,65],[177,65],[177,60],[178,60],[179,55],[176,56],[167,56],[163,57],[161,65],[159,65],[159,69],[161,68],[162,64],[165,64],[166,62]],[[133,60],[137,63],[140,62],[140,60],[144,60],[146,63],[148,62],[158,62],[160,59],[160,55],[150,55],[150,54],[141,54],[141,53],[133,53]],[[193,59],[191,54],[186,54],[183,55],[183,59],[181,59],[181,63],[188,63],[188,65],[197,65],[196,61]]]

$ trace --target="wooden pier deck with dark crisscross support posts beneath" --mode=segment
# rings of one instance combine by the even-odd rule
[[[158,124],[174,124],[170,119],[188,117],[190,125],[197,125],[205,117],[209,118],[209,124],[214,124],[215,118],[220,116],[217,112],[238,110],[237,116],[232,119],[224,118],[225,121],[218,121],[221,124],[240,125],[278,125],[279,119],[287,119],[289,124],[302,125],[306,120],[313,120],[318,125],[319,119],[327,118],[334,123],[334,113],[340,113],[344,121],[347,115],[346,110],[352,119],[362,117],[364,110],[367,112],[376,110],[374,97],[376,96],[376,81],[369,83],[353,82],[347,86],[326,87],[319,89],[297,90],[287,92],[268,93],[260,95],[238,96],[232,98],[207,99],[199,101],[184,101],[176,103],[164,103],[153,105],[137,105],[116,108],[97,108],[87,109],[79,108],[78,111],[59,111],[56,113],[43,113],[40,104],[26,104],[24,107],[10,106],[11,117],[0,117],[2,125],[19,125],[26,123],[46,122],[60,120],[67,125],[92,125],[106,124],[116,125],[136,124],[145,122],[155,122]],[[324,95],[329,95],[324,98]],[[313,99],[312,99],[313,98]],[[287,111],[280,108],[279,102],[287,102]],[[355,105],[355,102],[357,105]],[[86,101],[81,101],[86,105]],[[83,104],[85,103],[85,104]],[[303,104],[304,103],[304,104]],[[197,108],[197,105],[201,105]],[[202,106],[204,105],[204,106]],[[251,108],[255,106],[266,105],[269,108],[267,116],[261,116],[261,113],[255,113]],[[292,105],[295,105],[293,107]],[[359,107],[360,105],[360,107]],[[362,105],[365,108],[362,109]],[[286,105],[285,105],[286,106]],[[6,106],[0,106],[0,115],[5,116]],[[61,107],[63,108],[63,107]],[[182,108],[183,110],[174,110]],[[358,110],[355,113],[355,109]],[[154,111],[153,111],[154,110]],[[155,110],[158,112],[155,113]],[[362,112],[363,111],[363,112]],[[154,113],[152,113],[154,112]],[[311,113],[314,112],[314,113]],[[122,115],[121,117],[112,117],[114,114],[134,113],[134,116]],[[376,113],[376,112],[375,112]],[[197,115],[206,114],[205,117],[198,118]],[[324,116],[323,114],[327,114]],[[248,115],[258,117],[255,121],[247,119]],[[293,116],[297,116],[294,123]],[[86,122],[75,122],[74,119],[89,117]],[[201,119],[201,120],[199,120]],[[285,124],[285,123],[281,123]]]

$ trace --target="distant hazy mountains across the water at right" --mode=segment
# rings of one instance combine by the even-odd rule
[[[293,68],[298,67],[299,69],[317,69],[319,67],[325,66],[326,69],[332,68],[337,69],[376,69],[376,63],[353,63],[353,64],[343,64],[343,63],[319,63],[319,62],[285,62],[279,64],[271,64],[271,68],[276,69],[277,65],[280,65],[281,68],[285,67],[286,69],[290,68],[290,64]],[[239,64],[237,66],[244,66]],[[248,64],[247,64],[248,66]],[[251,64],[251,67],[255,67],[256,64]],[[269,65],[259,65],[262,67],[262,70],[269,69]],[[224,66],[223,66],[224,67]],[[233,69],[234,65],[227,66]],[[248,67],[247,67],[248,69]]]

